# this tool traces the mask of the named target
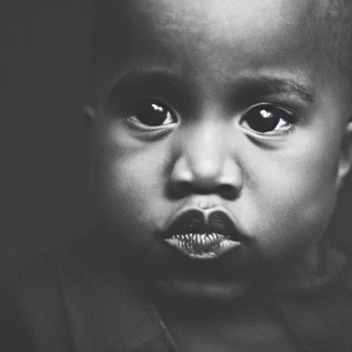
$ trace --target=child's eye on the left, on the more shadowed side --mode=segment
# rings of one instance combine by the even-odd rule
[[[141,98],[132,111],[129,122],[144,128],[168,126],[178,122],[172,109],[159,98]]]

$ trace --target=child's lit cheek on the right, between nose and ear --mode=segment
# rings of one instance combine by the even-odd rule
[[[338,142],[317,135],[296,143],[259,153],[248,177],[248,208],[256,209],[248,226],[261,234],[257,243],[267,255],[294,253],[318,241],[336,201]]]

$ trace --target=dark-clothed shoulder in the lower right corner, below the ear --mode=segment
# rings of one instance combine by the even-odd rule
[[[296,293],[278,306],[305,351],[352,349],[352,272],[345,267],[334,280],[316,292]]]

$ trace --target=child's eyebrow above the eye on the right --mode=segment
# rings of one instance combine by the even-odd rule
[[[316,101],[316,91],[311,85],[289,78],[272,76],[242,77],[234,83],[234,90],[245,95],[295,94],[305,102]]]

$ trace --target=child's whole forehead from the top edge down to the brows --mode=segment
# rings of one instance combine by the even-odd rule
[[[135,0],[104,2],[99,75],[131,65],[226,75],[280,58],[317,67],[314,0]],[[320,2],[321,3],[321,2]],[[315,39],[315,40],[312,40]],[[305,51],[305,55],[302,52]],[[315,54],[314,54],[315,53]],[[285,65],[285,61],[288,63]],[[307,61],[308,62],[308,61]],[[245,65],[244,65],[245,64]],[[298,66],[298,65],[297,65]],[[279,68],[279,67],[278,67]],[[309,67],[305,67],[309,71]]]

